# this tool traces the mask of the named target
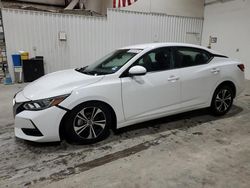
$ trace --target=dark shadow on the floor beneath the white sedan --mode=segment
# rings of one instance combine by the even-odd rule
[[[236,116],[242,111],[243,109],[241,107],[233,105],[232,109],[224,116],[212,116],[209,114],[208,109],[199,109],[177,115],[166,116],[164,118],[158,118],[112,131],[111,135],[107,139],[96,144],[84,145],[84,146],[74,143],[69,144],[66,141],[51,142],[51,143],[36,143],[30,141],[23,141],[18,138],[16,139],[18,139],[18,142],[27,144],[28,146],[31,147],[38,147],[38,148],[45,147],[46,149],[48,149],[51,147],[52,149],[53,148],[55,149],[56,147],[58,150],[65,150],[69,147],[72,147],[72,149],[74,147],[85,147],[93,149],[96,147],[101,147],[103,145],[108,145],[109,143],[113,143],[116,141],[121,142],[122,140],[132,139],[139,136],[156,134],[165,131],[187,130],[191,127],[195,127],[203,123],[213,122],[219,119],[226,119]],[[49,152],[49,150],[47,152]]]

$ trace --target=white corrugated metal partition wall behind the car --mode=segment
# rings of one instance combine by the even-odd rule
[[[82,67],[115,48],[148,42],[200,43],[202,19],[110,9],[107,17],[3,9],[10,73],[11,54],[44,56],[46,73]],[[59,40],[65,32],[66,41]],[[196,41],[190,40],[190,35]]]

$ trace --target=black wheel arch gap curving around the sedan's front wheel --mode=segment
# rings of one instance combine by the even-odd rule
[[[116,113],[114,111],[114,109],[112,108],[112,106],[104,101],[101,101],[101,100],[89,100],[89,101],[85,101],[85,102],[82,102],[80,104],[78,104],[77,106],[75,106],[74,108],[80,106],[80,105],[83,105],[83,104],[86,104],[86,103],[102,103],[104,104],[105,106],[107,106],[107,108],[110,110],[111,112],[111,116],[112,116],[112,125],[111,125],[111,129],[112,130],[115,130],[117,128],[117,117],[116,117]],[[64,137],[64,125],[66,123],[66,119],[69,118],[69,115],[71,113],[71,111],[74,109],[72,108],[71,110],[68,110],[67,113],[63,116],[61,122],[60,122],[60,125],[59,125],[59,136],[60,136],[60,140],[63,140],[65,137]]]

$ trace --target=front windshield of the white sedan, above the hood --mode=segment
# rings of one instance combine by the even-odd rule
[[[142,50],[137,49],[116,50],[106,55],[96,63],[87,67],[76,69],[76,71],[90,75],[112,74],[117,72],[123,65],[125,65],[130,59],[141,51]]]

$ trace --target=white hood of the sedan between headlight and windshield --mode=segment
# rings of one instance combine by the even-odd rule
[[[103,77],[86,75],[74,69],[58,71],[27,85],[23,95],[30,100],[38,100],[70,94],[74,89],[96,83]]]

